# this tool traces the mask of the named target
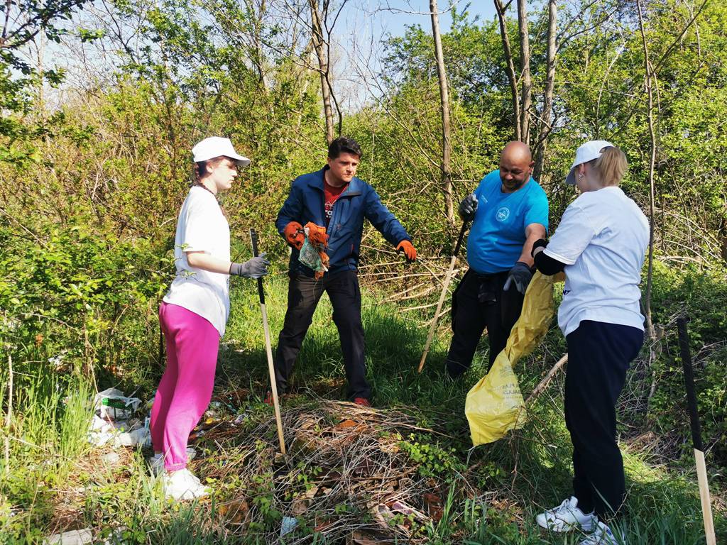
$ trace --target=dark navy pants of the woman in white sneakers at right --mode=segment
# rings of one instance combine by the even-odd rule
[[[566,426],[573,441],[573,491],[579,508],[608,519],[624,501],[624,463],[616,444],[616,400],[643,331],[584,320],[567,337]]]

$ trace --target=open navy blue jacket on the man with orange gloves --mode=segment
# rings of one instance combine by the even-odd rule
[[[324,172],[323,169],[303,174],[294,179],[290,195],[278,212],[276,227],[283,234],[290,222],[305,226],[308,222],[326,225],[324,217]],[[361,248],[361,235],[364,231],[364,218],[384,235],[394,246],[403,240],[411,241],[409,233],[403,228],[386,206],[381,203],[371,185],[354,177],[333,205],[333,215],[326,233],[329,234],[326,254],[330,259],[329,273],[342,270],[356,270],[358,252]],[[313,270],[298,261],[298,251],[290,255],[290,272],[313,276]]]

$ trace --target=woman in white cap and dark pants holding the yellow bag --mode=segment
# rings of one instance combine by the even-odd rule
[[[626,169],[624,153],[610,142],[578,148],[566,183],[581,195],[550,242],[533,246],[541,273],[566,273],[558,326],[568,343],[565,407],[574,468],[573,496],[537,523],[591,532],[587,545],[625,543],[614,525],[625,496],[616,400],[643,344],[639,283],[649,238],[648,220],[619,188]]]

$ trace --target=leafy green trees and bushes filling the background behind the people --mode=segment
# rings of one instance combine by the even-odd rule
[[[727,339],[720,318],[727,304],[727,7],[691,0],[644,5],[656,82],[654,319],[668,324],[686,308],[695,349],[715,347],[704,357],[700,384],[710,400],[705,429],[714,442],[724,437],[726,413],[723,389],[713,383],[725,380],[715,354],[723,354]],[[284,267],[286,248],[273,219],[290,181],[321,168],[326,153],[306,6],[284,0],[4,5],[12,13],[0,39],[0,341],[15,360],[63,352],[72,367],[129,383],[158,373],[155,305],[172,275],[190,148],[207,135],[230,137],[252,158],[238,187],[225,195],[233,257],[249,255],[244,233],[256,227],[261,246],[277,258],[278,270]],[[558,10],[553,129],[540,177],[553,226],[574,197],[562,183],[574,149],[593,138],[627,153],[624,190],[648,208],[651,140],[634,9],[606,0]],[[530,17],[529,115],[531,142],[537,142],[547,12],[533,4]],[[466,11],[452,18],[442,47],[457,202],[497,168],[515,119],[497,22]],[[517,56],[516,27],[510,21]],[[77,53],[86,76],[64,83],[68,67],[60,56],[56,65],[33,64],[31,46],[40,37],[55,44],[54,52]],[[449,254],[456,234],[443,214],[439,183],[435,58],[430,34],[417,25],[384,45],[380,67],[358,65],[367,100],[345,112],[343,132],[364,149],[361,177],[430,259],[417,269],[425,275]],[[57,88],[50,104],[41,100],[44,84]],[[364,246],[366,270],[393,270],[385,241],[367,232]],[[659,426],[680,424],[664,416],[680,392],[674,365],[675,355],[662,352],[654,368],[656,393],[646,420]],[[727,464],[724,449],[715,453]]]

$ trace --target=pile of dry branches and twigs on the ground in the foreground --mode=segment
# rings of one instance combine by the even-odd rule
[[[203,436],[215,456],[237,453],[207,473],[218,482],[241,482],[240,493],[220,504],[226,528],[260,531],[266,543],[310,542],[314,533],[328,543],[426,541],[448,488],[423,476],[401,445],[412,432],[438,432],[400,411],[326,400],[288,408],[282,417],[287,456],[278,452],[272,414],[244,431],[244,424],[223,420]],[[469,487],[458,485],[458,496],[475,496],[462,486]],[[295,517],[297,528],[281,539],[282,517]]]

